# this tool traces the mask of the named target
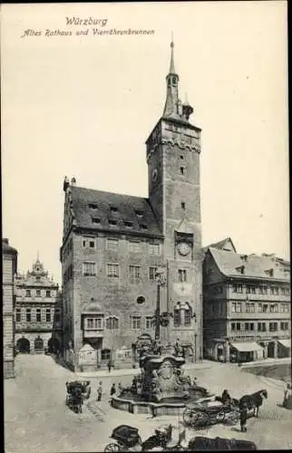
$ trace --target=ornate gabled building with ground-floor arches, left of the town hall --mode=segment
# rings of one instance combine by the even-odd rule
[[[16,352],[61,351],[61,294],[39,258],[26,275],[15,276],[15,296]]]

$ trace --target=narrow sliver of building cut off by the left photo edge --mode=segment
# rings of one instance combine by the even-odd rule
[[[15,377],[15,325],[14,325],[14,279],[17,272],[17,250],[9,246],[8,239],[2,239],[3,266],[3,359],[4,377]]]

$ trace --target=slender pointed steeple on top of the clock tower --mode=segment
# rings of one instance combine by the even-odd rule
[[[166,93],[166,102],[163,111],[163,116],[178,115],[179,114],[179,76],[174,69],[174,53],[173,53],[174,43],[171,36],[170,43],[170,72],[166,76],[167,83],[167,93]]]

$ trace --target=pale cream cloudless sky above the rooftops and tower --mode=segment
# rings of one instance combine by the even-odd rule
[[[154,33],[92,32],[129,28]],[[238,253],[289,259],[287,2],[7,4],[2,234],[19,271],[39,252],[62,282],[65,175],[148,196],[145,140],[164,107],[171,32],[180,98],[202,129],[203,246],[230,236]]]

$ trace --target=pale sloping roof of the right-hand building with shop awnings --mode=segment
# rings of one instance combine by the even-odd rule
[[[275,259],[273,260],[270,256],[239,255],[213,247],[209,247],[209,253],[223,275],[277,280],[289,280],[290,277],[277,269]]]

